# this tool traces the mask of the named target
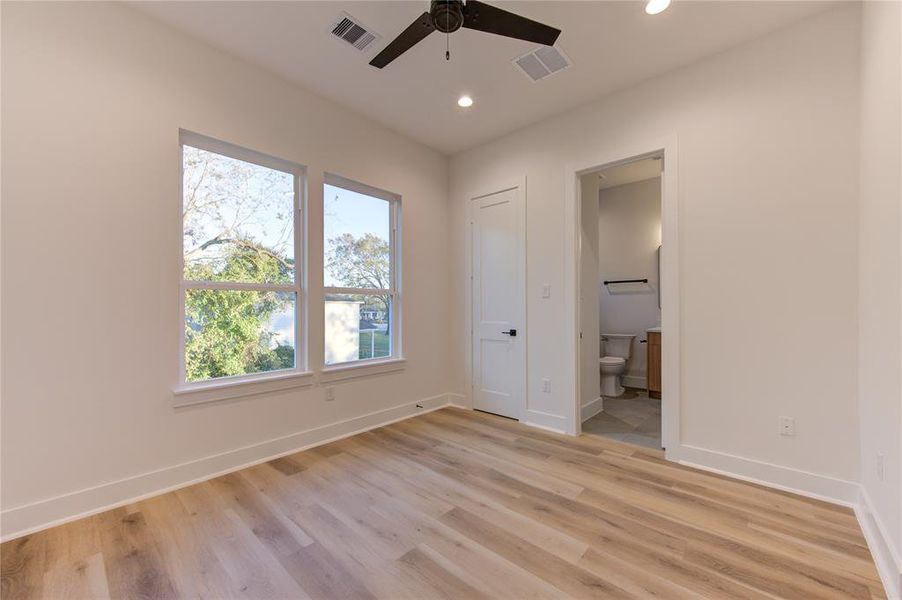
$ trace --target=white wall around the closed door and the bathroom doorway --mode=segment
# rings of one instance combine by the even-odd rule
[[[854,489],[858,15],[841,5],[453,157],[455,310],[466,190],[528,177],[527,403],[546,424],[566,423],[576,393],[561,293],[565,166],[675,136],[683,444],[749,469],[779,465],[802,487]],[[464,332],[455,347],[464,356]],[[780,415],[796,417],[796,437],[777,435]]]

